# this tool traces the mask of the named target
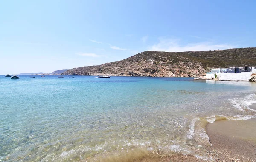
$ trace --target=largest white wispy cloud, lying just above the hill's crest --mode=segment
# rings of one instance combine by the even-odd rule
[[[180,45],[177,39],[159,39],[157,44],[148,47],[151,51],[166,51],[166,52],[182,52],[182,51],[205,51],[205,50],[223,50],[229,48],[236,48],[236,45],[227,43],[216,44],[213,42],[199,42]]]

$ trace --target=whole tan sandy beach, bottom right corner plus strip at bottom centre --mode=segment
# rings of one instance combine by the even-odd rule
[[[252,107],[252,106],[251,106]],[[250,108],[251,108],[250,107]],[[256,162],[256,118],[250,120],[218,120],[206,126],[212,146],[208,148],[216,162]],[[134,151],[109,156],[104,162],[205,162],[192,155],[161,156],[148,151]],[[103,162],[102,161],[102,162]]]

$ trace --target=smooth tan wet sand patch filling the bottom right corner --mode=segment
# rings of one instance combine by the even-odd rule
[[[206,128],[219,161],[256,162],[256,119],[220,120]]]

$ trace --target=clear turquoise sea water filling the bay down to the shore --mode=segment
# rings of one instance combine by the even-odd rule
[[[256,84],[0,75],[0,160],[79,161],[132,148],[204,158],[200,120],[256,117]]]

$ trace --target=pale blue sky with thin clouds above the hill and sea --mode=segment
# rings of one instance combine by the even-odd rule
[[[0,0],[0,74],[256,47],[255,0]]]

